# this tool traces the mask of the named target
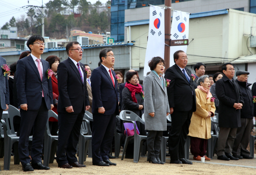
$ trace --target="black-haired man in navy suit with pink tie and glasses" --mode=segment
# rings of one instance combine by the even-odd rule
[[[41,59],[44,45],[44,38],[40,35],[30,37],[27,46],[31,54],[17,62],[16,85],[21,115],[18,151],[23,171],[50,169],[45,167],[41,160],[48,110],[54,107],[52,80],[51,77],[48,79],[47,75],[49,63]],[[32,164],[30,164],[28,139],[32,127]]]

